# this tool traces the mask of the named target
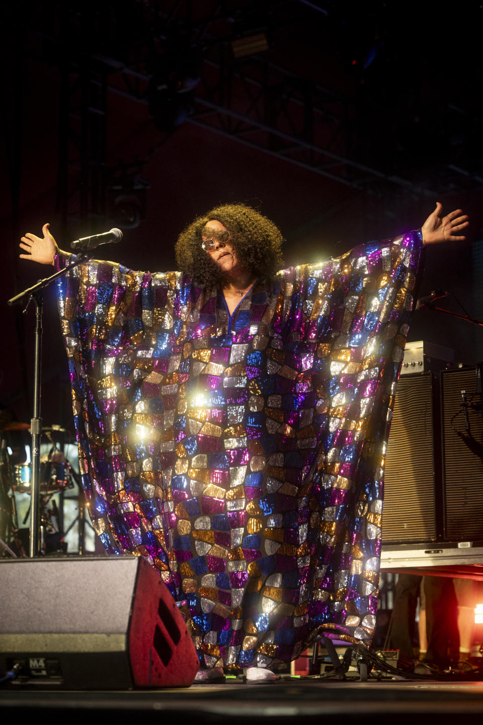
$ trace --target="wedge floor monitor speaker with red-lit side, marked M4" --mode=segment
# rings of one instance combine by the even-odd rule
[[[140,558],[0,561],[0,673],[11,687],[188,687],[190,634],[164,582]]]

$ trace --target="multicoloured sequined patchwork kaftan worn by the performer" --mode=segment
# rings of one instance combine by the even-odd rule
[[[293,659],[321,626],[370,643],[420,251],[413,232],[283,270],[231,316],[181,273],[59,281],[93,526],[187,600],[206,666]]]

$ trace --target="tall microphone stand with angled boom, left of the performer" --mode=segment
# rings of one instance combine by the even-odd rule
[[[35,558],[40,554],[40,537],[39,537],[39,502],[41,494],[41,356],[42,356],[42,308],[43,294],[42,290],[48,287],[52,282],[60,277],[64,277],[67,272],[74,269],[84,262],[89,262],[93,258],[90,252],[77,255],[75,262],[71,262],[64,269],[59,270],[50,277],[39,280],[36,284],[25,289],[15,297],[9,299],[7,305],[12,306],[17,302],[27,299],[27,304],[23,310],[27,312],[30,302],[35,304],[35,344],[33,357],[33,417],[30,421],[30,435],[32,436],[32,476],[30,482],[30,558]]]

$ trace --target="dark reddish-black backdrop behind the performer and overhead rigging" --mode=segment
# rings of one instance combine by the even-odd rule
[[[62,207],[59,201],[64,192],[59,184],[69,160],[62,157],[62,148],[69,153],[74,148],[62,146],[66,107],[62,78],[72,62],[83,67],[100,62],[100,56],[102,62],[107,58],[119,67],[142,70],[144,78],[151,78],[151,91],[156,73],[158,80],[177,74],[178,85],[198,73],[201,80],[194,95],[206,98],[206,76],[214,67],[206,60],[222,58],[225,68],[236,70],[243,64],[251,72],[253,57],[235,59],[231,43],[265,36],[266,49],[256,54],[261,65],[254,71],[259,103],[266,107],[267,94],[275,88],[264,86],[259,70],[267,61],[289,72],[299,88],[322,84],[335,94],[325,112],[332,108],[337,118],[332,140],[315,128],[312,142],[361,165],[334,162],[324,167],[327,174],[348,182],[342,183],[310,170],[307,163],[285,160],[278,154],[277,138],[269,138],[262,149],[243,143],[247,135],[230,138],[220,133],[221,122],[217,131],[203,128],[199,125],[203,106],[196,99],[190,101],[183,123],[166,128],[163,103],[159,110],[159,104],[149,100],[151,91],[140,99],[127,94],[125,86],[123,93],[108,91],[102,132],[106,168],[135,168],[134,176],[146,190],[136,192],[142,197],[141,220],[134,228],[118,223],[124,238],[117,246],[102,249],[106,258],[143,270],[174,268],[173,244],[185,225],[220,202],[246,202],[279,225],[286,239],[287,265],[319,261],[361,241],[419,228],[439,200],[446,212],[455,207],[468,212],[471,230],[462,244],[428,250],[421,294],[436,287],[448,289],[472,315],[483,317],[479,50],[483,11],[477,2],[454,5],[447,14],[441,7],[322,0],[311,4],[203,0],[190,6],[174,0],[132,0],[122,4],[20,1],[4,8],[1,406],[18,420],[30,420],[33,309],[22,315],[21,310],[8,308],[6,301],[49,271],[18,260],[20,234],[41,233],[41,225],[49,221],[60,246],[68,248],[71,239],[112,225],[102,212],[83,216],[71,209],[66,215],[69,204]],[[183,65],[185,52],[180,49],[188,47],[186,43],[190,53],[194,48],[194,70]],[[120,77],[114,68],[111,86],[117,83],[121,88]],[[275,88],[277,94],[283,94],[280,88]],[[226,88],[224,96],[217,96],[219,106],[231,104],[244,113],[240,83],[233,81],[228,90],[231,97]],[[167,116],[172,109],[165,111]],[[282,118],[281,106],[277,112]],[[78,120],[82,99],[72,114],[72,128],[77,128],[76,113]],[[324,118],[319,115],[316,123]],[[196,119],[198,124],[193,123]],[[285,128],[289,135],[301,137],[290,125]],[[95,133],[90,142],[96,144]],[[380,176],[366,173],[365,167]],[[71,181],[76,173],[73,164]],[[458,310],[454,300],[447,304]],[[437,312],[416,313],[410,339],[451,347],[458,360],[470,364],[483,357],[479,329]],[[43,349],[46,424],[70,426],[66,367],[54,294],[49,292]]]

